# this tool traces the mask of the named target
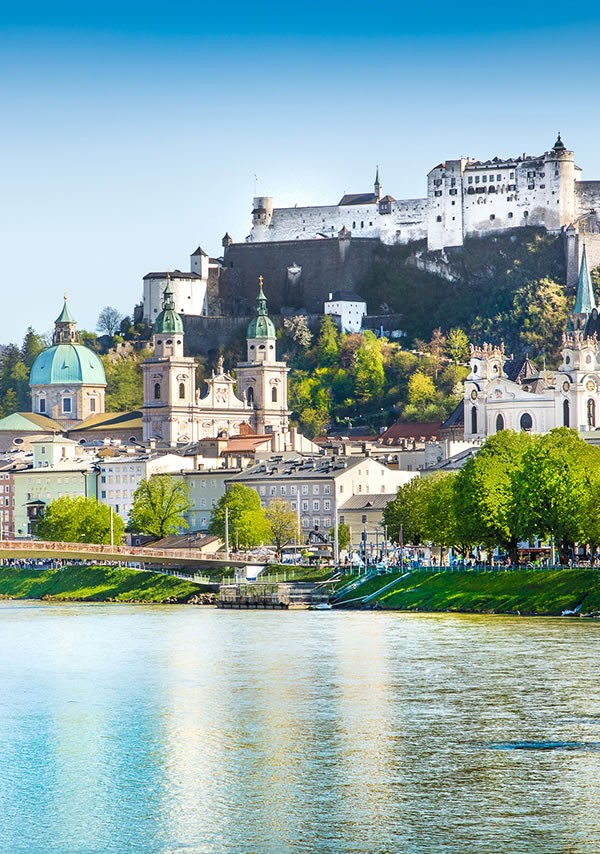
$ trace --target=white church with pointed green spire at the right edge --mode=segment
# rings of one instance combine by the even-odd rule
[[[502,345],[471,347],[464,388],[464,438],[483,441],[500,430],[547,433],[600,426],[600,318],[585,246],[572,316],[557,370],[536,370],[527,357],[509,360]]]

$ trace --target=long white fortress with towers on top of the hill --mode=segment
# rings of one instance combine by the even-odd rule
[[[600,181],[580,173],[559,134],[539,156],[446,160],[429,172],[423,199],[382,196],[379,171],[373,193],[347,194],[337,205],[276,208],[271,197],[257,197],[247,240],[323,240],[344,229],[387,244],[426,238],[437,250],[528,225],[558,232],[600,210]]]

